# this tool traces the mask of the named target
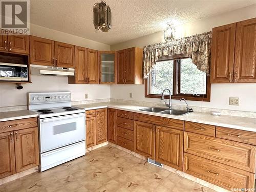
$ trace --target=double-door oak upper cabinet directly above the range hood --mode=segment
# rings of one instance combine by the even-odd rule
[[[35,65],[75,67],[75,46],[30,36],[30,62]]]

